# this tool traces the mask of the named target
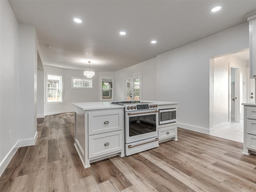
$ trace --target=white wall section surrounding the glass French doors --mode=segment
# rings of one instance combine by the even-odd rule
[[[124,77],[142,73],[142,100],[156,100],[156,58],[115,72],[115,100],[125,100]],[[153,90],[153,92],[151,92]]]

